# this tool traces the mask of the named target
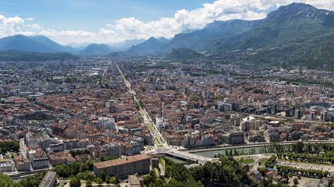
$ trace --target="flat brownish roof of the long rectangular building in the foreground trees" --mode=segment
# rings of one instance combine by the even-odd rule
[[[150,156],[146,155],[146,154],[138,154],[136,156],[128,156],[126,158],[119,158],[116,160],[112,160],[112,161],[104,161],[104,162],[100,162],[100,163],[94,163],[94,166],[98,169],[101,168],[109,168],[111,166],[115,166],[115,165],[122,165],[125,163],[132,163],[132,162],[136,162],[136,161],[142,161],[145,159],[151,158]]]

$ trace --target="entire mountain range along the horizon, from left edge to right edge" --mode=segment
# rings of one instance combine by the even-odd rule
[[[77,45],[78,46],[78,45]],[[180,33],[171,39],[126,40],[116,44],[65,47],[36,35],[13,35],[0,39],[0,51],[70,52],[78,55],[180,54],[185,48],[205,56],[235,53],[250,60],[280,61],[328,67],[334,70],[334,13],[304,3],[281,6],[266,18],[215,21],[205,28]],[[123,51],[123,52],[120,52]],[[187,54],[193,54],[187,51]]]

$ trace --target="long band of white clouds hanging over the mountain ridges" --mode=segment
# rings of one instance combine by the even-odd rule
[[[262,19],[271,10],[292,2],[309,3],[317,8],[334,10],[334,0],[217,0],[204,3],[194,10],[177,10],[172,17],[143,22],[136,17],[123,17],[106,23],[97,32],[78,30],[58,31],[40,26],[33,17],[5,17],[0,15],[0,37],[22,33],[40,34],[62,44],[70,42],[120,42],[122,40],[173,37],[177,33],[202,29],[214,20]],[[26,22],[29,22],[28,24]]]

